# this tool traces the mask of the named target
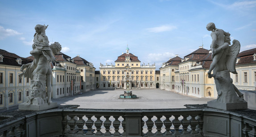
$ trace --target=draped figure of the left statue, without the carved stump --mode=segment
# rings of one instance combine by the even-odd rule
[[[35,58],[32,63],[28,63],[21,66],[21,71],[27,68],[23,74],[25,77],[30,79],[37,79],[38,77],[46,76],[46,87],[47,87],[47,102],[50,104],[52,95],[52,68],[50,63],[55,62],[54,54],[61,51],[61,45],[54,43],[49,45],[48,37],[45,35],[45,30],[48,27],[45,25],[37,24],[35,27],[36,33],[33,40],[33,50],[30,54]],[[54,51],[54,52],[53,52]],[[43,78],[40,78],[43,79]]]

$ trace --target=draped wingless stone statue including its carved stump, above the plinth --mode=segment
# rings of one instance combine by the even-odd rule
[[[45,103],[50,105],[52,102],[51,63],[55,62],[54,54],[58,54],[62,47],[58,42],[49,45],[48,37],[45,35],[45,30],[47,27],[48,25],[36,25],[36,33],[34,35],[34,43],[32,46],[33,50],[30,51],[30,54],[34,57],[34,60],[32,63],[21,66],[21,71],[23,72],[21,75],[24,75],[31,80],[33,79],[31,81],[32,93],[29,95],[27,105],[42,105]],[[33,101],[35,98],[37,98],[37,101]],[[39,100],[41,101],[38,102]]]

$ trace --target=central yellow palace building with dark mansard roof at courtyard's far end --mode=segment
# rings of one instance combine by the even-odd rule
[[[103,65],[99,67],[99,88],[101,89],[116,89],[126,88],[156,88],[156,66],[141,64],[137,56],[129,53],[129,48],[126,48],[126,53],[117,57],[115,65]]]

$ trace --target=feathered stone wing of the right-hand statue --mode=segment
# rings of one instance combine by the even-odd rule
[[[237,74],[235,70],[235,63],[236,63],[237,55],[239,54],[239,51],[240,51],[240,43],[236,39],[234,39],[232,43],[233,44],[229,46],[229,49],[228,49],[226,67],[227,67],[227,70],[229,70],[231,73]]]

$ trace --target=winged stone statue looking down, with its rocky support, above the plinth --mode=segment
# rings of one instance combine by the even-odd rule
[[[243,94],[239,92],[232,83],[233,80],[230,78],[230,72],[237,74],[235,70],[235,63],[240,51],[239,41],[234,39],[232,42],[233,44],[229,46],[231,44],[230,34],[222,29],[217,29],[214,23],[208,23],[206,25],[206,29],[208,31],[212,31],[212,63],[208,71],[208,77],[214,77],[218,93],[218,98],[211,102],[245,102]],[[211,71],[213,71],[213,74],[211,74]]]

